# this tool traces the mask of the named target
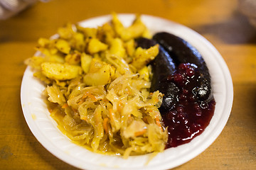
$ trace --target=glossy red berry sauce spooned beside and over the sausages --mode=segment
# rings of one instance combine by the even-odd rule
[[[178,103],[163,115],[164,125],[169,132],[166,148],[190,142],[205,130],[213,117],[214,98],[210,101],[199,101],[193,94],[193,89],[198,87],[199,77],[196,65],[189,63],[179,64],[177,71],[168,77],[168,81],[178,86],[180,94]]]

